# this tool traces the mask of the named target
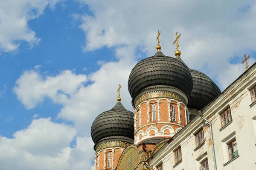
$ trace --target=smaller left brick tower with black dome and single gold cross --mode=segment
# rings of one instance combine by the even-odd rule
[[[133,112],[123,107],[120,93],[116,105],[93,121],[91,137],[96,151],[95,170],[114,170],[122,151],[134,143]]]

